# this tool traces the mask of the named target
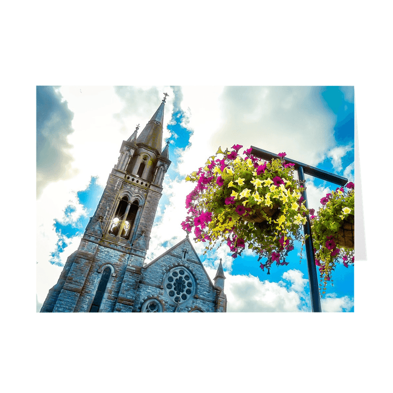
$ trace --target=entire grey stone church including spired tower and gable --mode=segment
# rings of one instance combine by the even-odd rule
[[[162,150],[166,97],[120,148],[94,216],[40,312],[226,312],[188,237],[148,264],[150,232],[171,162]]]

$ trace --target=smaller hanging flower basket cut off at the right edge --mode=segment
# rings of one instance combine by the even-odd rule
[[[315,264],[323,282],[332,281],[332,272],[342,261],[345,267],[354,263],[354,184],[349,182],[321,199],[322,207],[316,216],[311,215],[311,233]],[[348,236],[348,238],[346,238]],[[322,284],[321,284],[322,287]]]

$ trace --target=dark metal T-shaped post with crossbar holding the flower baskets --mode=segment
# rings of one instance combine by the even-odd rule
[[[272,158],[279,158],[277,154],[271,153],[266,150],[259,149],[257,147],[251,146],[252,151],[251,154],[253,156],[260,158],[265,161],[270,161]],[[340,186],[344,186],[348,179],[342,176],[338,176],[334,173],[327,172],[322,169],[318,169],[315,167],[311,167],[307,164],[301,163],[299,161],[291,160],[285,157],[285,161],[287,163],[294,164],[294,168],[298,171],[300,184],[303,186],[303,198],[305,199],[305,205],[308,208],[307,202],[307,193],[305,187],[305,177],[304,174],[307,173],[313,177],[317,177],[318,179],[326,180],[330,183],[335,183]],[[311,225],[309,215],[307,215],[307,221],[304,225],[304,233],[306,235],[305,247],[306,247],[306,256],[307,256],[307,268],[309,272],[309,287],[310,287],[310,297],[311,297],[311,310],[313,312],[321,312],[321,300],[319,298],[319,290],[318,290],[318,276],[315,267],[315,257],[314,257],[314,246],[312,243],[311,236]],[[308,235],[308,236],[307,236]]]

